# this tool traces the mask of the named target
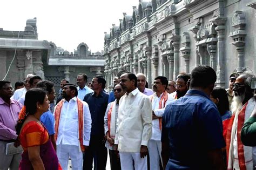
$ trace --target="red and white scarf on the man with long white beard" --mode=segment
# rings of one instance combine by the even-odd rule
[[[252,147],[244,146],[241,141],[241,130],[245,121],[246,114],[246,103],[242,106],[239,112],[232,115],[230,123],[227,127],[227,169],[231,170],[234,168],[234,152],[233,143],[235,139],[235,132],[237,132],[237,152],[238,152],[238,164],[241,170],[252,169],[253,168],[253,158],[252,158]]]

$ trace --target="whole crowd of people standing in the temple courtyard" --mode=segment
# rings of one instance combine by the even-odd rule
[[[176,80],[120,71],[106,80],[85,73],[76,84],[28,74],[0,81],[2,169],[255,169],[256,108],[249,72],[215,87],[206,65]],[[55,98],[56,97],[56,98]]]

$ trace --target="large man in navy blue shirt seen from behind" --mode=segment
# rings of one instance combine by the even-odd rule
[[[164,169],[225,169],[222,121],[209,98],[215,81],[210,66],[197,66],[190,90],[166,106],[161,135]]]

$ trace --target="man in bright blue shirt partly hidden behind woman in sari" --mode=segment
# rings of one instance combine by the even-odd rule
[[[41,88],[43,89],[47,96],[48,96],[48,100],[50,101],[50,103],[54,102],[55,99],[55,90],[53,87],[53,83],[51,81],[48,80],[43,80],[43,81],[39,81],[36,85],[37,88]],[[47,112],[44,112],[41,117],[40,117],[40,121],[42,121],[42,123],[44,124],[44,126],[46,127],[46,129],[48,130],[50,137],[51,137],[51,142],[53,147],[55,148],[56,151],[56,141],[54,138],[54,134],[55,134],[55,129],[54,129],[54,123],[55,123],[55,119],[53,117],[52,112],[50,111],[50,108]]]

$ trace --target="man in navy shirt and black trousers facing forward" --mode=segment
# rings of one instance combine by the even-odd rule
[[[89,149],[84,152],[83,169],[92,169],[92,158],[95,169],[105,169],[107,148],[105,147],[104,115],[109,94],[104,92],[106,80],[102,76],[93,77],[91,82],[93,92],[84,97],[84,101],[89,105],[92,127]]]

